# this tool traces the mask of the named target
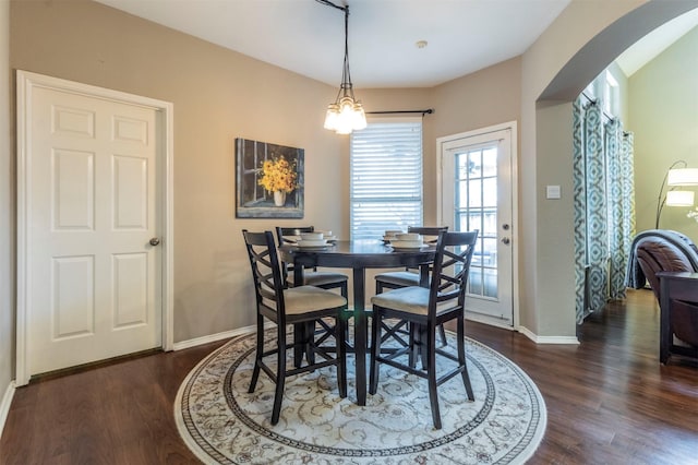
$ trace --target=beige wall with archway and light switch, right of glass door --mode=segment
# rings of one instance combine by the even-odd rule
[[[574,0],[524,53],[519,186],[525,330],[551,342],[576,332],[571,131],[559,116],[627,47],[697,7],[694,0]],[[547,184],[559,184],[563,198],[546,200]],[[546,260],[549,254],[556,259]]]

